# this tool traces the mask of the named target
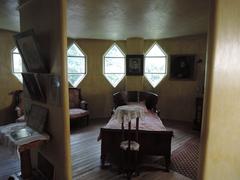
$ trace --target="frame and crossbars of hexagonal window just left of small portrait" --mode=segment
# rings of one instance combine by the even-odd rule
[[[120,53],[123,55],[123,57],[113,57],[113,56],[107,56],[106,57],[106,55],[109,53],[109,51],[114,47],[114,46],[116,46],[117,47],[117,49],[120,51]],[[106,58],[116,58],[116,59],[124,59],[124,61],[123,61],[123,63],[124,63],[124,69],[123,69],[123,73],[106,73],[105,72],[105,59]],[[116,84],[116,85],[114,85],[114,84],[112,84],[109,80],[108,80],[108,78],[105,76],[105,74],[122,74],[123,75],[123,77],[119,80],[119,82]],[[107,49],[107,51],[103,54],[103,75],[104,75],[104,77],[107,79],[107,81],[114,87],[114,88],[116,88],[118,85],[119,85],[119,83],[123,80],[123,78],[126,76],[126,54],[122,51],[122,49],[117,45],[117,43],[113,43],[108,49]]]

